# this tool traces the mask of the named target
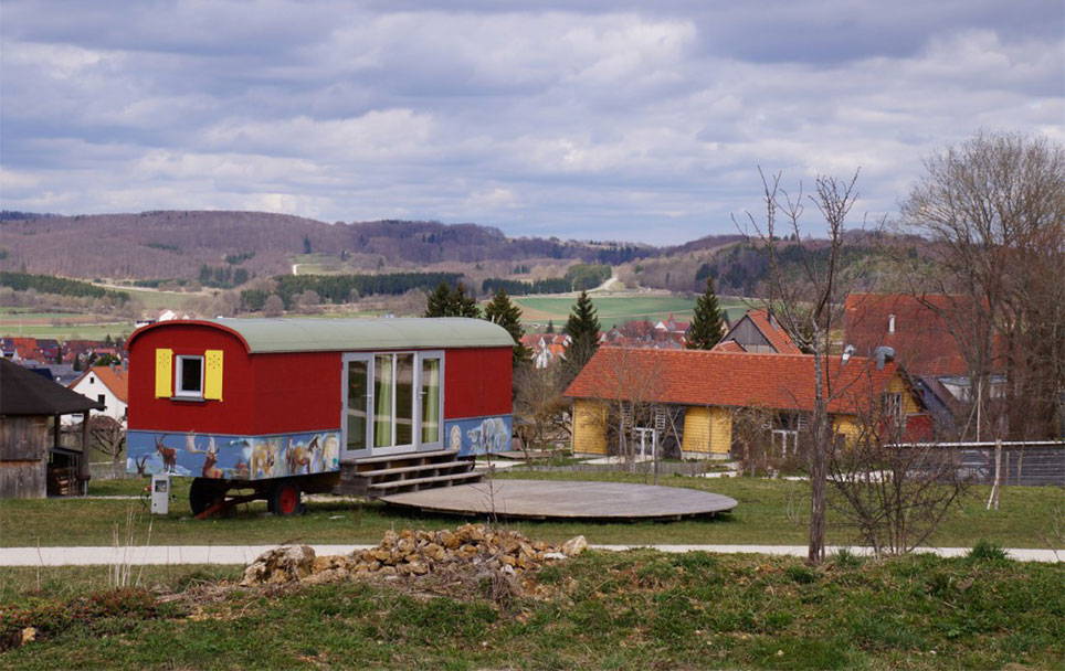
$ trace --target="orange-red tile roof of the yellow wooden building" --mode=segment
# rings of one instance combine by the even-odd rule
[[[895,362],[839,356],[827,364],[833,397],[829,411],[875,409],[881,391],[899,372]],[[703,350],[600,348],[566,390],[574,398],[637,398],[678,405],[812,411],[813,355],[732,354]]]

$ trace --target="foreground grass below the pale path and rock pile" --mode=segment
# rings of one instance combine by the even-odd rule
[[[6,668],[1061,669],[1065,566],[587,552],[489,600],[437,582],[75,595],[11,575]],[[75,585],[84,579],[70,574]],[[208,575],[207,577],[211,577]],[[60,594],[55,594],[55,589]],[[479,593],[479,594],[478,594]]]

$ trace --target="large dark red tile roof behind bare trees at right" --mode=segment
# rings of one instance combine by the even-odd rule
[[[924,302],[900,294],[851,294],[844,341],[854,345],[855,353],[869,356],[876,348],[889,347],[914,375],[968,375],[968,363],[948,322],[966,299],[943,295],[921,298]],[[892,316],[894,332],[889,328]],[[999,342],[997,349],[1001,350]]]

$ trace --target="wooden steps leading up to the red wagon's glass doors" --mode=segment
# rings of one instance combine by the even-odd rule
[[[479,482],[484,477],[473,470],[472,459],[458,459],[458,450],[407,452],[368,457],[340,464],[340,484],[334,493],[378,498]]]

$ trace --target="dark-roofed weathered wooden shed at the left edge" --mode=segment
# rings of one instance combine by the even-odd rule
[[[94,409],[103,405],[0,359],[0,499],[43,499],[50,489],[85,493],[85,429],[81,451],[63,448],[60,417],[81,414],[82,426],[87,427]]]

